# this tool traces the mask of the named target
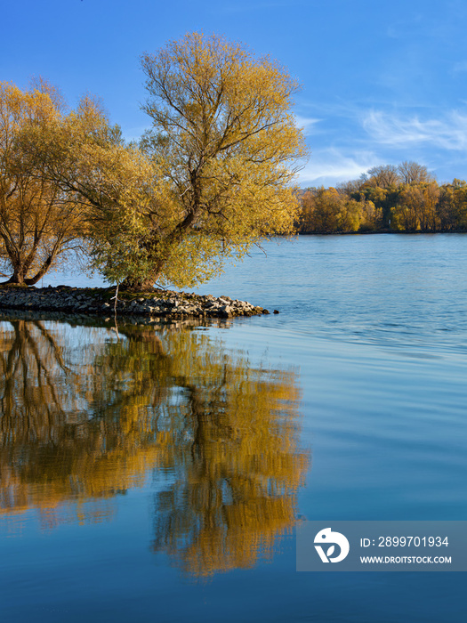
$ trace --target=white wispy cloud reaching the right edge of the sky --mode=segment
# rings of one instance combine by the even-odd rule
[[[431,145],[444,150],[467,149],[467,114],[457,110],[440,119],[424,120],[372,110],[366,113],[362,125],[374,142],[391,147]]]

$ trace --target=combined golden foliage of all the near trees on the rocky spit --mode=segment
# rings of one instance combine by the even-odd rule
[[[294,231],[294,174],[306,150],[292,114],[298,84],[286,69],[197,33],[141,62],[152,127],[139,143],[126,144],[93,99],[64,114],[50,90],[8,87],[27,102],[2,171],[4,214],[20,214],[13,219],[19,233],[6,231],[6,217],[0,232],[13,280],[35,282],[78,238],[112,281],[192,286],[220,271],[225,258]],[[46,114],[28,114],[28,106]],[[29,185],[13,201],[15,172]],[[43,214],[48,229],[39,223]],[[19,263],[12,248],[23,238],[28,251]],[[42,262],[34,277],[33,255]]]

